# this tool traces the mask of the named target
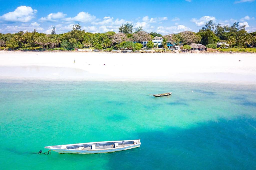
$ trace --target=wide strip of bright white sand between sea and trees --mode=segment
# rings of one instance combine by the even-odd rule
[[[256,54],[0,51],[0,79],[254,84]]]

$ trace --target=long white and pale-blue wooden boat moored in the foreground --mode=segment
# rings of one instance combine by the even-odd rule
[[[70,145],[46,146],[46,149],[58,153],[107,153],[116,152],[141,146],[140,140],[117,140],[105,142],[76,143]]]

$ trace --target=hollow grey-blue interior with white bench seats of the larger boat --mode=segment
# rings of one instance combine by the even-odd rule
[[[83,145],[72,145],[67,146],[67,149],[78,149],[78,150],[90,150],[90,149],[107,149],[107,148],[119,148],[133,145],[134,141],[122,141],[122,142],[106,142],[106,143],[90,143]]]

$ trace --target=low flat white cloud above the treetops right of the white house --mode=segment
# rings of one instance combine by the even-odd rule
[[[170,34],[170,33],[179,33],[182,31],[191,31],[190,28],[186,27],[185,25],[177,25],[171,27],[157,27],[156,32],[160,34]]]

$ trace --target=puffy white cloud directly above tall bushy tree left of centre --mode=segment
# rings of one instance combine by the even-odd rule
[[[75,17],[68,17],[68,18],[63,18],[63,21],[66,21],[67,23],[70,22],[82,22],[82,23],[87,23],[87,22],[92,22],[96,19],[95,16],[89,14],[88,12],[79,12],[77,16]]]

